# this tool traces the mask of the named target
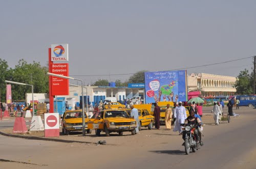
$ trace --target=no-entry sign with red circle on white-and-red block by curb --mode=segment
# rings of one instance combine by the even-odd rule
[[[45,114],[45,137],[59,136],[59,114]]]

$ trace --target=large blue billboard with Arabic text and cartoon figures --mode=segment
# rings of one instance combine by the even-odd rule
[[[187,71],[145,72],[145,103],[187,101]]]

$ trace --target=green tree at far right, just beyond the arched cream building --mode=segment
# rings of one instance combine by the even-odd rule
[[[253,92],[253,88],[251,86],[252,81],[253,79],[249,74],[249,71],[247,69],[242,70],[237,76],[237,83],[235,86],[237,89],[237,94],[251,94]]]

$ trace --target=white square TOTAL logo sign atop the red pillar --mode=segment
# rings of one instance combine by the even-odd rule
[[[69,44],[52,44],[51,61],[69,61]]]

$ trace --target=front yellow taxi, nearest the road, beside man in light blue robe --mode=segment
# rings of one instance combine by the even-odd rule
[[[88,120],[88,128],[95,129],[98,136],[101,131],[104,131],[106,136],[110,136],[111,132],[123,135],[124,131],[130,131],[134,135],[136,126],[136,121],[130,118],[124,109],[105,109]]]

